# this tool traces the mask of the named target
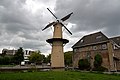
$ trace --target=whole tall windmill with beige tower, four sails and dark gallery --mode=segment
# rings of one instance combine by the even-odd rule
[[[64,68],[64,53],[63,53],[63,46],[64,44],[68,43],[69,40],[63,39],[62,37],[62,27],[64,27],[71,35],[72,33],[67,29],[67,27],[62,23],[70,18],[70,16],[73,14],[71,12],[67,16],[58,19],[55,14],[50,11],[49,8],[47,8],[48,11],[55,17],[56,21],[49,23],[45,28],[42,30],[45,30],[51,26],[54,27],[53,32],[53,38],[47,39],[46,41],[52,45],[51,50],[51,67],[52,68]]]

